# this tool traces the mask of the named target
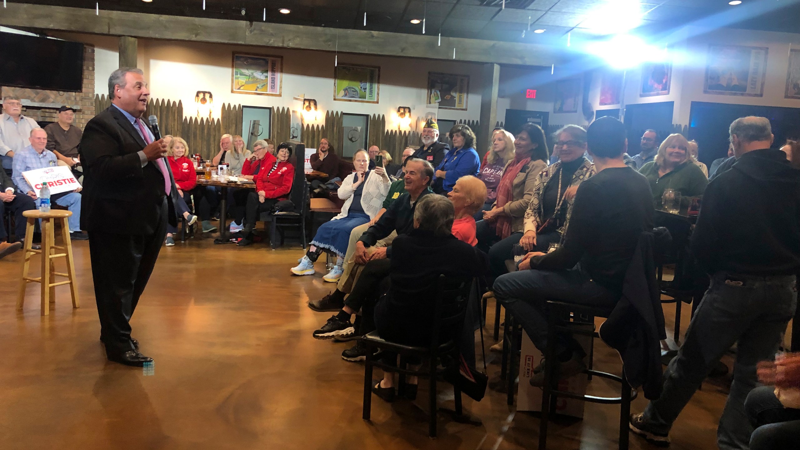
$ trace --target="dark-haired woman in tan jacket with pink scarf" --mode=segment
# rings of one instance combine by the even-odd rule
[[[490,211],[483,212],[483,219],[477,224],[478,248],[489,253],[493,277],[506,273],[506,259],[513,257],[511,249],[522,238],[525,212],[539,173],[547,167],[547,141],[542,128],[526,123],[516,138],[514,159],[506,164],[497,188],[497,199]]]

